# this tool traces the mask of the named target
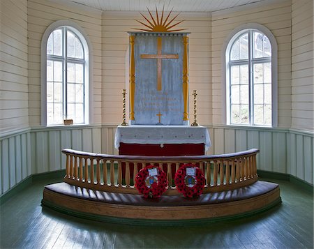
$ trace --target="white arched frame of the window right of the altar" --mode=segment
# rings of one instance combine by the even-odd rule
[[[257,31],[260,33],[263,33],[267,38],[269,38],[269,42],[271,44],[271,59],[260,59],[260,58],[253,58],[251,54],[249,54],[248,59],[245,59],[243,61],[235,61],[234,65],[241,64],[241,62],[246,62],[249,68],[252,68],[253,70],[253,64],[258,63],[258,62],[271,62],[271,126],[264,126],[264,125],[255,125],[253,124],[253,121],[251,123],[230,123],[230,113],[231,113],[231,105],[230,105],[230,52],[232,45],[234,45],[234,42],[242,36],[244,33],[248,31]],[[250,32],[249,32],[250,33]],[[253,34],[253,32],[252,32]],[[253,51],[253,44],[248,43],[249,46],[251,46],[251,51]],[[237,29],[234,29],[229,36],[227,36],[227,39],[225,40],[225,43],[223,44],[223,50],[222,50],[222,110],[223,110],[223,116],[222,116],[222,121],[225,123],[227,126],[246,126],[246,127],[263,127],[263,128],[270,128],[270,127],[276,127],[278,126],[278,96],[277,96],[277,43],[276,39],[274,38],[274,35],[267,29],[266,27],[260,25],[260,24],[255,24],[255,23],[248,23],[241,25],[240,27],[237,27]],[[253,71],[251,71],[253,72]],[[251,100],[251,97],[253,96],[253,82],[252,82],[252,74],[249,71],[249,106],[253,104],[253,100]],[[250,82],[252,84],[250,85]],[[252,87],[251,87],[252,86]],[[252,107],[253,108],[253,107]],[[249,115],[250,115],[250,120],[253,119],[253,114],[251,113],[252,110],[251,107],[249,107]]]

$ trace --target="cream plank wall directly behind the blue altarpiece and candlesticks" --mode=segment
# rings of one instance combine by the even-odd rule
[[[144,13],[144,15],[149,15]],[[175,13],[172,13],[174,17]],[[126,81],[126,52],[128,51],[128,33],[133,28],[142,28],[135,20],[144,21],[139,13],[104,12],[102,22],[103,40],[103,123],[121,123],[122,90],[128,89]],[[211,123],[211,66],[210,35],[211,18],[209,14],[181,13],[178,22],[186,20],[178,26],[191,32],[189,36],[189,96],[194,89],[198,90],[198,121]],[[128,74],[127,74],[128,75]],[[190,101],[190,103],[192,103]],[[193,119],[193,105],[190,105],[190,119]]]

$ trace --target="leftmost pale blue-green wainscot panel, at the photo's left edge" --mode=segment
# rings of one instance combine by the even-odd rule
[[[9,145],[8,139],[3,139],[1,141],[1,174],[2,174],[2,193],[10,188],[10,170],[9,170],[9,157],[8,157]]]

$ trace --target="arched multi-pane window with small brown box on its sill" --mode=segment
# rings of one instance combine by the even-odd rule
[[[73,119],[74,124],[89,123],[87,41],[80,31],[67,25],[47,29],[46,37],[42,44],[45,53],[42,121],[47,126],[62,125],[64,119]]]

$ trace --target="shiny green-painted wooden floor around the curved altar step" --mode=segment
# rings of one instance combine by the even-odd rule
[[[271,211],[193,227],[131,227],[43,210],[43,186],[57,181],[37,181],[1,206],[0,248],[313,248],[313,196],[286,181],[274,181],[283,203]]]

